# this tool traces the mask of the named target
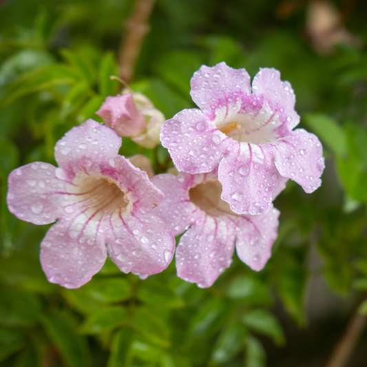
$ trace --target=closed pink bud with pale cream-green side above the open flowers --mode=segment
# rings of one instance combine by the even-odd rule
[[[160,144],[160,128],[165,116],[143,94],[124,92],[120,96],[107,97],[96,114],[119,136],[129,136],[142,147],[153,149]]]

